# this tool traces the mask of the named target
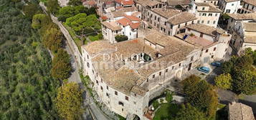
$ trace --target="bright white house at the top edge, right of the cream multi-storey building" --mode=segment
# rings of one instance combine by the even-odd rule
[[[220,0],[219,9],[227,14],[237,14],[238,9],[242,8],[240,0]]]

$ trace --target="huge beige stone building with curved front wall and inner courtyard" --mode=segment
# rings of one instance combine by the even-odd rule
[[[94,41],[82,46],[83,71],[111,111],[146,120],[151,119],[145,116],[149,101],[194,69],[200,52],[186,41],[158,32],[115,44]]]

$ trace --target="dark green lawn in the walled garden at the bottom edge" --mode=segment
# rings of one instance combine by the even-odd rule
[[[160,108],[156,111],[153,120],[171,119],[179,111],[179,105],[177,104],[161,104]]]

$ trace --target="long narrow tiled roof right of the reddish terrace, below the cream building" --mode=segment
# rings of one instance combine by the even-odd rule
[[[212,26],[207,26],[204,24],[191,24],[189,26],[185,26],[186,28],[193,29],[195,31],[202,32],[204,34],[208,34],[210,36],[217,36],[217,33],[224,34],[223,29],[217,29]]]

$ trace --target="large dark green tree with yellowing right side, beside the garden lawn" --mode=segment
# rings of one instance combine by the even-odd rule
[[[191,103],[207,116],[213,117],[216,114],[218,106],[217,93],[214,87],[202,81],[198,76],[191,75],[182,81],[186,101]]]

